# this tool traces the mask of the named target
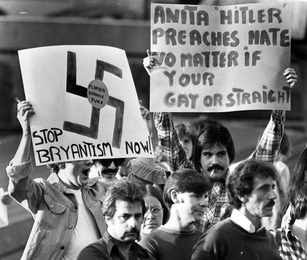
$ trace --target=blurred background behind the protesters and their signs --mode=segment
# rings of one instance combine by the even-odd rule
[[[51,45],[107,45],[123,49],[138,98],[149,108],[149,76],[143,68],[143,58],[147,55],[146,50],[150,49],[151,3],[219,6],[265,2],[274,1],[0,0],[0,187],[7,190],[5,168],[13,158],[21,137],[15,97],[24,100],[25,96],[18,50]],[[291,67],[296,70],[299,80],[291,92],[291,99],[295,102],[291,104],[291,111],[286,113],[285,129],[293,146],[292,157],[288,161],[290,170],[307,141],[307,2],[291,3]],[[230,130],[236,145],[236,161],[250,155],[270,114],[271,111],[265,110],[208,113]],[[199,115],[174,114],[174,118],[180,122]],[[154,144],[157,141],[155,131],[153,137]],[[45,166],[34,166],[34,178],[47,178],[48,175]],[[0,229],[0,258],[20,259],[34,220],[16,202],[8,206],[8,217],[9,226]]]

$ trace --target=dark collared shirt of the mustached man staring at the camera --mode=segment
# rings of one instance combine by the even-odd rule
[[[126,260],[118,249],[120,243],[106,231],[101,239],[82,249],[77,260]],[[147,260],[149,255],[138,243],[132,242],[129,259]]]

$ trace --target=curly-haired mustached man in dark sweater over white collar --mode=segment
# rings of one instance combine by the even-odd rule
[[[200,237],[191,259],[281,259],[274,236],[261,226],[261,218],[273,214],[275,179],[268,162],[239,164],[226,181],[231,217]]]

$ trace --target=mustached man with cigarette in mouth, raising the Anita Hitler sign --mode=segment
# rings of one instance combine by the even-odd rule
[[[147,53],[150,55],[149,50]],[[148,56],[144,58],[143,65],[150,75],[153,58]],[[294,69],[286,69],[284,76],[292,89],[297,79]],[[285,111],[273,110],[271,120],[264,130],[253,158],[268,162],[274,161],[283,137],[284,121]],[[192,161],[187,157],[178,139],[171,113],[154,113],[154,124],[171,172],[190,168],[206,174],[211,180],[212,190],[207,199],[207,212],[204,213],[196,227],[205,232],[211,226],[230,217],[232,209],[228,205],[225,180],[230,173],[228,166],[235,159],[235,148],[229,131],[221,125],[204,127],[197,137],[194,161]]]

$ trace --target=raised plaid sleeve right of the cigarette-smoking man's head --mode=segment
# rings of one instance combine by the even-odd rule
[[[285,111],[273,110],[270,122],[263,132],[254,157],[268,162],[273,162],[280,146],[284,133]]]

